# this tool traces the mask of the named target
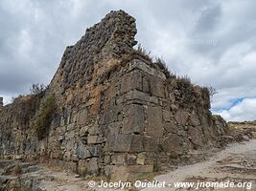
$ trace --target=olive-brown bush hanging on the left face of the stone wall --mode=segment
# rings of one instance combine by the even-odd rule
[[[37,138],[42,139],[47,136],[56,110],[55,95],[48,96],[42,101],[39,112],[35,117],[35,133]]]

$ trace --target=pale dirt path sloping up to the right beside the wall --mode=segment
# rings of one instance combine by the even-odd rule
[[[206,161],[192,165],[182,166],[175,171],[155,177],[159,182],[174,184],[179,181],[225,181],[230,180],[250,181],[251,189],[256,191],[256,139],[251,139],[243,143],[230,144],[226,149],[214,155]],[[219,188],[208,190],[248,190],[250,184],[244,188]],[[144,191],[155,190],[155,188],[146,188]],[[157,188],[157,190],[188,190],[177,188]],[[190,189],[190,190],[196,190]],[[198,190],[207,190],[201,188]]]

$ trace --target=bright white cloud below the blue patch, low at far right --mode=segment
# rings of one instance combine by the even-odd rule
[[[215,112],[228,121],[255,120],[256,98],[244,98],[228,110]]]

